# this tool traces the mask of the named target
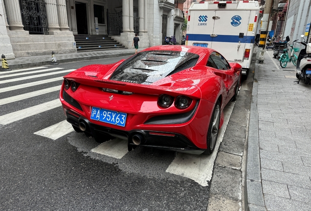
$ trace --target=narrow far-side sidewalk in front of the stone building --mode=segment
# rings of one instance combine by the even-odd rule
[[[139,51],[144,48],[140,48]],[[111,57],[130,56],[135,53],[135,49],[116,49],[116,50],[102,50],[102,51],[89,51],[77,52],[67,54],[55,54],[57,63],[68,63],[95,59],[104,59]],[[51,64],[51,55],[17,57],[13,60],[7,60],[10,69],[18,69],[24,67],[41,66]]]

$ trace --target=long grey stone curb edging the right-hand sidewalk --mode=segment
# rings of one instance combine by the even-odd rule
[[[259,132],[258,132],[258,60],[255,63],[254,81],[250,105],[247,164],[246,164],[246,184],[244,193],[246,195],[246,211],[267,211],[265,207],[259,152]]]

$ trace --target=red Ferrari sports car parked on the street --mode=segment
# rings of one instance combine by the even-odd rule
[[[236,100],[242,66],[196,46],[146,48],[127,60],[81,67],[64,77],[60,100],[77,132],[185,153],[210,154],[223,108]]]

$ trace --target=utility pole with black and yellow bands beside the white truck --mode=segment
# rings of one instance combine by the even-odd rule
[[[263,15],[263,24],[261,26],[260,40],[259,40],[259,45],[258,45],[258,47],[262,49],[265,49],[265,46],[266,46],[268,24],[270,20],[272,3],[273,3],[273,0],[266,0],[265,10],[264,10],[264,15]]]

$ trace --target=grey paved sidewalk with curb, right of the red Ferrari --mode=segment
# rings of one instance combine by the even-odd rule
[[[311,85],[266,51],[256,63],[247,156],[250,211],[311,210]]]

